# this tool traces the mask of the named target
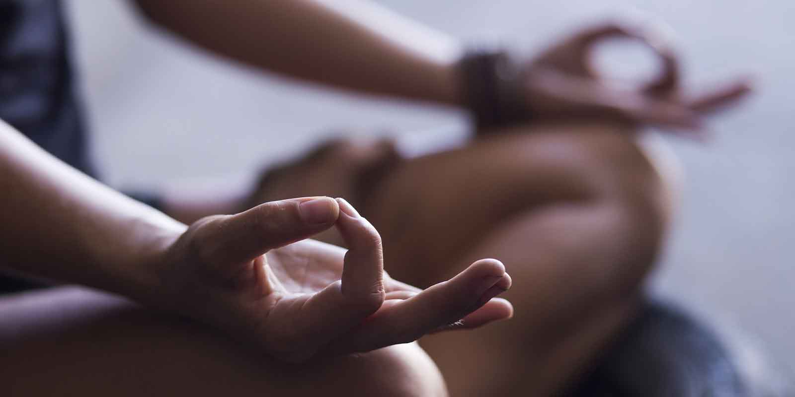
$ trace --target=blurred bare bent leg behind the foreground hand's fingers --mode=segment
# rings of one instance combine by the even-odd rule
[[[410,160],[364,212],[397,279],[429,285],[482,257],[514,279],[513,320],[421,341],[452,395],[549,395],[633,313],[668,195],[620,127],[538,126]]]

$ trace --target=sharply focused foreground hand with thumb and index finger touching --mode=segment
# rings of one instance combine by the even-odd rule
[[[304,240],[332,225],[347,252]],[[203,218],[168,249],[160,279],[169,309],[293,362],[482,326],[513,310],[494,299],[511,283],[497,260],[479,260],[425,291],[391,279],[378,232],[328,197]]]

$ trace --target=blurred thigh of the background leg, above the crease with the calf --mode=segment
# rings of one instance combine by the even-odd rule
[[[535,215],[541,210],[576,217],[588,214],[581,205],[608,203],[665,212],[665,188],[652,164],[622,126],[516,127],[405,161],[372,187],[363,212],[382,235],[390,274],[425,287],[467,266],[467,249],[490,230],[517,218],[549,218]],[[526,248],[517,242],[516,249]]]

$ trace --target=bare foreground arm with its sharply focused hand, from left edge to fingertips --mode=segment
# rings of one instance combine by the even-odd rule
[[[0,266],[117,292],[285,360],[369,351],[512,313],[494,299],[511,283],[497,260],[425,291],[391,279],[378,232],[341,198],[267,202],[186,229],[2,122],[0,192]],[[332,226],[350,249],[306,240]]]

